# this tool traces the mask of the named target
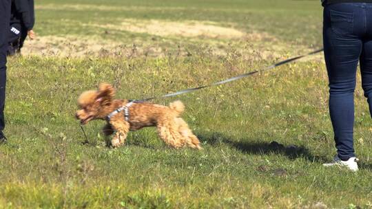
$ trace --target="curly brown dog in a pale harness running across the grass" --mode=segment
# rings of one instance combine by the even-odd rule
[[[114,100],[115,90],[112,85],[101,83],[97,91],[85,91],[78,99],[81,109],[76,111],[76,118],[81,124],[90,120],[106,120],[103,127],[105,135],[114,133],[111,144],[121,146],[129,131],[136,131],[147,126],[156,126],[161,139],[174,148],[190,146],[200,149],[198,137],[180,118],[185,106],[176,101],[169,107],[147,102],[130,102]]]

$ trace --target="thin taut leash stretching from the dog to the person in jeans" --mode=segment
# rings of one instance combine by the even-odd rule
[[[280,65],[285,65],[285,64],[288,64],[288,63],[293,63],[294,61],[297,61],[300,58],[304,58],[306,56],[311,56],[311,55],[314,55],[314,54],[318,54],[320,52],[323,52],[323,49],[316,50],[316,51],[310,52],[308,54],[296,56],[296,57],[293,57],[293,58],[288,58],[285,61],[280,61],[279,63],[275,63],[275,64],[270,65],[268,67],[264,67],[262,69],[258,69],[258,70],[253,71],[253,72],[248,72],[246,74],[241,74],[239,76],[234,76],[232,78],[227,78],[226,80],[221,80],[221,81],[218,81],[216,83],[211,83],[209,85],[204,85],[204,86],[194,87],[194,88],[189,88],[189,89],[183,89],[181,91],[176,91],[174,93],[165,94],[163,96],[155,96],[155,97],[145,98],[145,99],[141,99],[141,100],[133,100],[133,101],[136,101],[136,102],[147,102],[149,100],[155,100],[155,99],[161,99],[161,98],[168,98],[168,97],[172,97],[172,96],[178,96],[180,94],[187,94],[189,92],[198,91],[200,89],[205,89],[205,88],[208,88],[208,87],[223,85],[225,83],[230,83],[230,82],[233,82],[235,80],[240,80],[242,78],[246,78],[246,77],[251,76],[253,74],[257,74],[259,72],[265,72],[265,71],[267,71],[269,69],[273,69],[273,68],[279,67]]]

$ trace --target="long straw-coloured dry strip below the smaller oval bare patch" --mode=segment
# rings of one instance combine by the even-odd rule
[[[247,61],[274,61],[288,58],[289,55],[286,54],[286,52],[293,50],[290,47],[282,45],[263,45],[262,41],[256,42],[257,39],[261,39],[262,37],[263,36],[260,34],[251,34],[250,36],[245,36],[244,40],[237,41],[233,44],[207,42],[206,44],[197,45],[194,43],[194,46],[190,49],[188,45],[180,47],[176,45],[176,43],[170,43],[170,45],[174,45],[174,47],[169,47],[169,43],[163,45],[162,43],[143,43],[141,41],[137,41],[137,44],[121,44],[96,36],[38,36],[34,41],[25,41],[22,54],[25,56],[39,55],[71,57],[164,57],[169,56],[169,53],[171,53],[173,56],[194,56],[195,54],[199,54],[199,56],[240,57]],[[296,50],[293,50],[293,54],[296,54]],[[309,57],[309,59],[311,58],[313,59],[314,57]]]

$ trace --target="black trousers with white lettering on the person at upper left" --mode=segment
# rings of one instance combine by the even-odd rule
[[[14,55],[21,52],[25,38],[27,37],[27,29],[20,23],[10,25],[8,35],[8,55]]]

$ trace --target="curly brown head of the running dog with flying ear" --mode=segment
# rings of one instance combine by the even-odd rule
[[[101,83],[98,90],[85,91],[79,96],[80,109],[76,111],[76,119],[81,124],[90,120],[104,119],[110,113],[115,90],[112,85]]]

